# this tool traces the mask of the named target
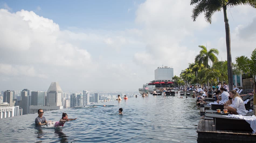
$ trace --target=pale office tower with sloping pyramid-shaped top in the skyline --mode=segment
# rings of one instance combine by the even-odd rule
[[[58,82],[51,82],[47,91],[46,105],[47,106],[62,106],[62,90]]]

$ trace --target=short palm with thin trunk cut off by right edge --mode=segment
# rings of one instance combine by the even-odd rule
[[[245,56],[236,57],[236,63],[238,66],[238,69],[241,69],[244,73],[250,74],[254,80],[253,82],[253,108],[254,108],[254,114],[256,115],[256,48],[252,51],[251,59]]]

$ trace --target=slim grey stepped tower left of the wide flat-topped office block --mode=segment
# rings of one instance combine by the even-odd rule
[[[23,89],[20,92],[20,95],[21,95],[20,108],[22,108],[22,115],[29,114],[29,97],[27,96],[27,89]]]

